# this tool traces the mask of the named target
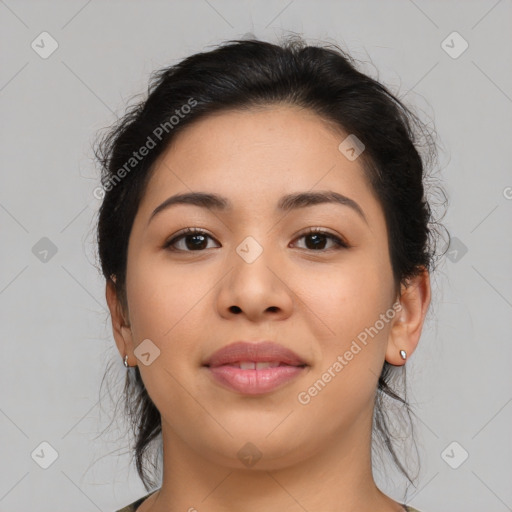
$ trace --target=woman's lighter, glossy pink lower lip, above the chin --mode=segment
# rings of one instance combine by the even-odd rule
[[[217,366],[207,369],[215,380],[245,395],[261,395],[281,387],[298,377],[305,367],[276,366],[263,370],[242,370],[236,366]]]

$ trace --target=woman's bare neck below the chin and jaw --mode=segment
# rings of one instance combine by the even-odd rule
[[[162,422],[162,487],[140,511],[403,512],[373,480],[369,416],[364,428],[358,422],[336,432],[321,440],[323,449],[296,455],[293,463],[263,457],[243,469],[238,460],[221,464],[201,456]]]

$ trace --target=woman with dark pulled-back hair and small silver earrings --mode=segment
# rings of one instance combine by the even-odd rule
[[[383,398],[420,339],[433,229],[416,117],[337,47],[229,41],[103,139],[98,244],[137,469],[122,512],[414,511]],[[425,135],[425,131],[422,132]],[[427,137],[427,142],[429,139]]]

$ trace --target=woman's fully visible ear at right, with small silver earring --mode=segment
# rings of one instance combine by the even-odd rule
[[[388,337],[386,361],[395,366],[405,364],[400,351],[407,357],[416,349],[420,340],[423,322],[430,304],[430,275],[427,269],[401,285],[400,309],[397,311]]]

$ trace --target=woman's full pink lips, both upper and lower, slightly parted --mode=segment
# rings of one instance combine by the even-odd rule
[[[278,362],[279,366],[243,370],[240,362]],[[294,352],[271,341],[237,341],[215,352],[205,363],[212,377],[227,388],[246,395],[268,393],[304,372],[307,364]]]

